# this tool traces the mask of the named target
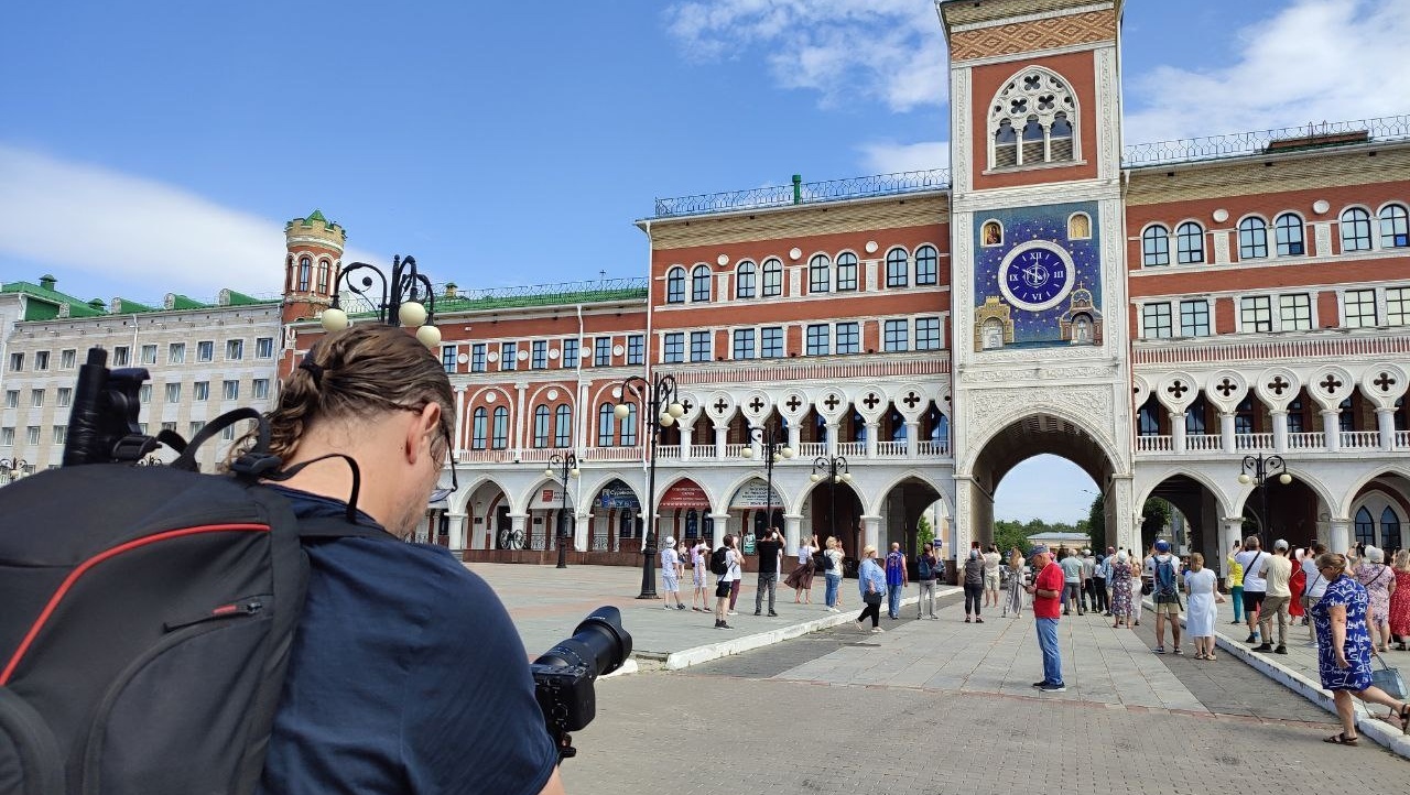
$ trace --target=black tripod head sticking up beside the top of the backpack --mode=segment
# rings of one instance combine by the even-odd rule
[[[107,369],[107,351],[89,348],[73,389],[65,467],[138,461],[157,450],[157,440],[144,434],[137,423],[147,378],[142,368]]]

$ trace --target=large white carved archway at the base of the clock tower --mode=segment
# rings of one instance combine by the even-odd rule
[[[1055,412],[1035,410],[998,427],[984,440],[974,440],[967,464],[955,475],[955,550],[963,555],[971,543],[988,544],[994,533],[994,493],[998,483],[1021,462],[1042,454],[1058,455],[1081,468],[1101,491],[1107,509],[1104,538],[1093,544],[1135,547],[1135,510],[1128,472],[1107,434],[1081,420]]]

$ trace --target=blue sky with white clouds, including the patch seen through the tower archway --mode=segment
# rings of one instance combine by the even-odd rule
[[[657,196],[948,158],[931,0],[11,6],[0,281],[82,297],[271,293],[314,207],[461,286],[637,276]],[[1404,41],[1410,0],[1131,0],[1125,138],[1407,111]]]

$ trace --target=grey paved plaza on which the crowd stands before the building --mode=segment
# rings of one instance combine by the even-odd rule
[[[1228,623],[1228,605],[1218,629],[1234,631],[1220,639],[1213,662],[1194,660],[1189,640],[1183,655],[1153,654],[1149,610],[1134,630],[1112,629],[1097,613],[1065,617],[1069,689],[1038,694],[1029,686],[1042,678],[1032,613],[986,610],[983,624],[966,624],[955,589],[945,589],[939,620],[915,620],[911,586],[901,620],[883,615],[887,631],[871,634],[852,624],[856,581],[845,582],[842,615],[794,605],[792,591],[783,591],[780,617],[768,619],[752,615],[746,577],[740,615],[730,617],[739,629],[726,631],[709,615],[637,600],[639,569],[471,568],[505,599],[530,654],[599,605],[622,609],[642,671],[598,684],[598,717],[575,736],[581,756],[564,767],[575,794],[716,792],[722,758],[733,765],[728,788],[736,792],[1048,791],[1032,764],[1063,785],[1111,792],[1153,791],[1152,770],[1169,792],[1263,775],[1290,782],[1279,785],[1286,792],[1352,792],[1376,775],[1410,775],[1410,763],[1376,744],[1407,754],[1390,725],[1363,720],[1358,748],[1323,744],[1337,726],[1318,702],[1306,627],[1290,627],[1292,654],[1252,654],[1246,631]],[[814,596],[821,602],[821,585]],[[667,667],[691,654],[688,667]],[[1410,654],[1400,665],[1410,668]],[[1148,764],[1156,758],[1163,763]],[[1289,765],[1300,772],[1289,775]]]

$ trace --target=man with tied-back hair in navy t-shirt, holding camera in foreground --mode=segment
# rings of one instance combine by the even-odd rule
[[[451,445],[436,357],[400,328],[323,337],[269,414],[300,519],[386,538],[305,543],[310,574],[259,791],[561,794],[527,654],[494,591],[447,550],[406,544]],[[352,492],[357,462],[361,491]]]

